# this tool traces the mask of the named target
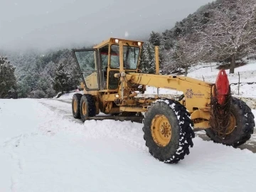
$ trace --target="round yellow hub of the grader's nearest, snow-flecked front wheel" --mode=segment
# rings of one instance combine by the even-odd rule
[[[164,114],[156,114],[152,119],[151,135],[158,146],[166,146],[171,141],[171,124]]]

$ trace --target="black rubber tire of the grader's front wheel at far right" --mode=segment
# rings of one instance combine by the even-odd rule
[[[254,115],[250,107],[242,100],[232,97],[230,113],[235,117],[233,131],[220,137],[213,129],[206,129],[206,134],[213,142],[225,144],[228,146],[240,146],[250,139],[255,127]]]

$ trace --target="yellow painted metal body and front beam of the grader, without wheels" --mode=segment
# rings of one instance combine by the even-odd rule
[[[99,88],[97,73],[92,73],[85,78],[88,89],[84,93],[95,96],[97,103],[97,113],[99,111],[106,114],[119,113],[119,112],[146,112],[147,107],[151,105],[158,98],[138,98],[137,92],[144,92],[146,85],[166,88],[171,90],[182,91],[184,98],[181,104],[186,107],[188,112],[191,113],[191,119],[195,123],[195,127],[208,128],[210,119],[210,97],[213,90],[212,83],[196,80],[193,78],[174,76],[174,75],[159,75],[159,47],[155,47],[156,51],[156,75],[137,73],[139,68],[134,70],[126,70],[124,68],[124,46],[139,47],[141,53],[143,42],[130,41],[119,39],[118,42],[114,41],[116,38],[109,38],[102,41],[94,48],[100,53],[101,48],[108,48],[107,59],[107,89],[96,90]],[[138,42],[141,42],[138,45]],[[119,68],[110,68],[110,48],[112,45],[119,46]],[[116,71],[114,77],[119,79],[117,89],[109,89],[110,72]],[[136,72],[136,73],[134,73]],[[83,86],[85,87],[85,86]]]

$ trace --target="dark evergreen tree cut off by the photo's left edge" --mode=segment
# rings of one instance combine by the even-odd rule
[[[14,97],[16,93],[15,67],[0,56],[0,98]]]

